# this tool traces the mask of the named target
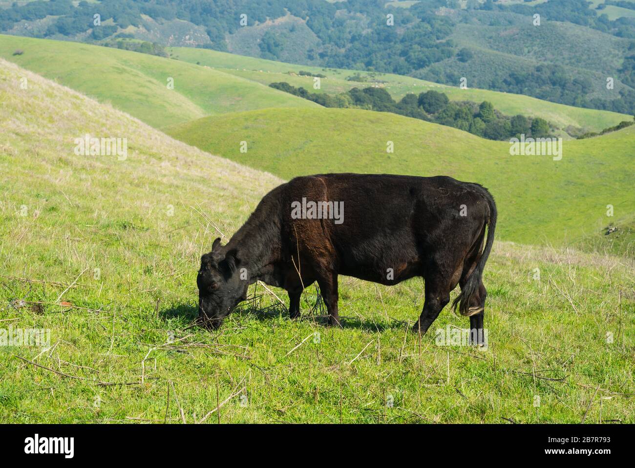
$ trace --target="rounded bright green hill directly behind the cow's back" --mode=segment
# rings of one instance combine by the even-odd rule
[[[264,109],[168,129],[182,141],[286,179],[318,172],[446,174],[490,188],[501,238],[569,244],[631,218],[635,128],[563,142],[563,158],[511,156],[508,142],[357,109]],[[240,142],[248,151],[241,153]],[[394,153],[387,153],[387,142]],[[614,217],[606,216],[606,205]],[[635,240],[632,236],[627,241]],[[631,249],[632,246],[624,245]]]

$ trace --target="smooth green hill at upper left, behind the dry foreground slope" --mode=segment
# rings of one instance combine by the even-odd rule
[[[22,55],[13,55],[16,50]],[[317,106],[223,72],[115,48],[0,35],[0,57],[110,102],[153,127],[230,111]]]

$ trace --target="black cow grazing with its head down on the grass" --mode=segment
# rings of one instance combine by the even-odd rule
[[[482,330],[481,279],[496,217],[487,189],[451,177],[296,177],[267,193],[226,245],[218,238],[203,255],[199,322],[218,328],[257,280],[288,291],[293,319],[300,294],[317,281],[329,323],[339,325],[337,275],[388,286],[419,276],[425,301],[415,333],[427,331],[457,284],[454,308]]]

